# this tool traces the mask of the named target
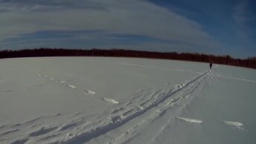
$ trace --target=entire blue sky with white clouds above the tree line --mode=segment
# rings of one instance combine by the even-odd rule
[[[0,50],[127,48],[256,56],[254,0],[0,0]]]

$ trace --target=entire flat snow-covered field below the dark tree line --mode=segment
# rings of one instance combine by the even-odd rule
[[[0,59],[0,143],[256,143],[256,71],[159,59]]]

